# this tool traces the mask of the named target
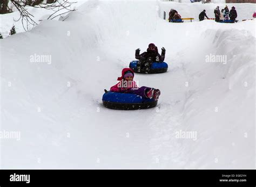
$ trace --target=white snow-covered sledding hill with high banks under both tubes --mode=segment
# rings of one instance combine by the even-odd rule
[[[170,24],[167,6],[187,4],[88,1],[1,40],[1,130],[21,132],[0,139],[1,168],[254,168],[255,20]],[[169,71],[134,79],[161,90],[158,106],[106,109],[104,89],[150,42]]]

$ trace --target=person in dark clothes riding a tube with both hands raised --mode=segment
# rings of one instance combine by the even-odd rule
[[[145,73],[149,73],[150,67],[153,62],[163,62],[165,58],[165,48],[161,48],[161,55],[158,53],[157,46],[154,44],[149,44],[147,52],[139,54],[140,49],[136,49],[135,57],[138,59],[137,70],[140,72],[141,68],[145,68]]]

